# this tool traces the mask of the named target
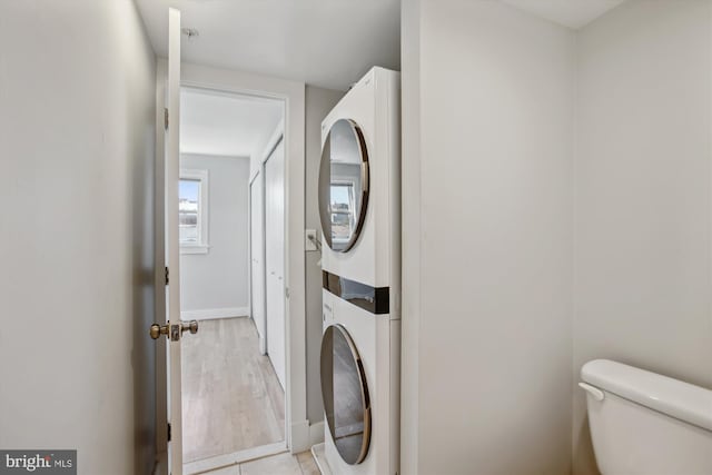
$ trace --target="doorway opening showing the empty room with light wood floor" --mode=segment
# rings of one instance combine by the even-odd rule
[[[284,148],[279,158],[274,146],[284,110],[278,99],[180,91],[180,308],[200,328],[182,344],[186,474],[287,448]],[[268,180],[261,190],[256,176]]]

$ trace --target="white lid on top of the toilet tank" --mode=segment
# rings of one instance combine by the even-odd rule
[[[581,368],[585,383],[712,431],[712,390],[609,359]]]

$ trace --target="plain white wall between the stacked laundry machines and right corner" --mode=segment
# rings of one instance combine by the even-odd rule
[[[403,473],[568,473],[574,36],[404,6]]]

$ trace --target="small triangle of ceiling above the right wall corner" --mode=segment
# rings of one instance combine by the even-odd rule
[[[504,3],[577,30],[625,0],[501,0]]]

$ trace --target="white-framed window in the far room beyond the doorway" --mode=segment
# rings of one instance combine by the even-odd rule
[[[178,240],[181,254],[208,251],[208,171],[180,170]]]

